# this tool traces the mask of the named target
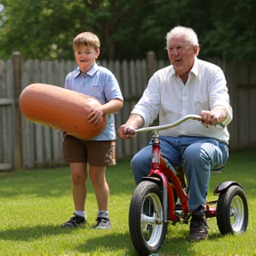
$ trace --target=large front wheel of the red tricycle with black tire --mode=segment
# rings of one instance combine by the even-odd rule
[[[152,181],[140,182],[133,193],[129,210],[130,236],[139,255],[146,256],[160,249],[167,226],[160,188]]]

